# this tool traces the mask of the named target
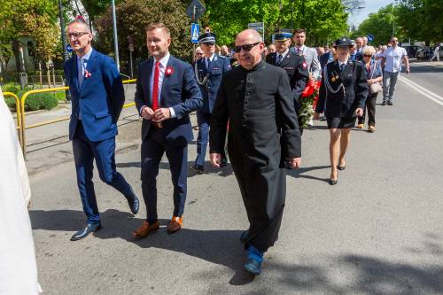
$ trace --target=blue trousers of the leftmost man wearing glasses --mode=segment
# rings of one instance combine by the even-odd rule
[[[100,179],[111,185],[127,199],[135,198],[135,193],[120,173],[115,169],[115,137],[100,142],[91,142],[84,133],[82,121],[79,121],[73,139],[77,185],[82,198],[83,212],[89,223],[98,223],[100,216],[97,198],[92,182],[93,160],[96,159]]]

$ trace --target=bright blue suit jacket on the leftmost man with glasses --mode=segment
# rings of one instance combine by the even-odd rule
[[[125,103],[125,90],[112,58],[92,49],[86,69],[90,76],[83,77],[80,86],[77,56],[69,58],[64,66],[72,99],[69,139],[73,139],[81,118],[86,136],[97,142],[117,135],[117,120]]]

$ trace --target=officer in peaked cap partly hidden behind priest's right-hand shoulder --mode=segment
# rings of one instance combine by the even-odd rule
[[[276,52],[268,54],[266,62],[273,66],[280,66],[289,76],[291,90],[296,110],[301,93],[306,88],[309,72],[307,62],[302,55],[289,50],[291,46],[291,30],[281,29],[275,35]]]

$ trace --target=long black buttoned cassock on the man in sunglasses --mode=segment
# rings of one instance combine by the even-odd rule
[[[229,121],[229,159],[250,222],[245,245],[274,245],[286,195],[287,158],[301,157],[288,75],[264,61],[223,76],[211,118],[210,152],[222,153]]]

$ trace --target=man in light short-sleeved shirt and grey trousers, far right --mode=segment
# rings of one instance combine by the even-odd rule
[[[382,105],[393,105],[393,94],[400,74],[401,62],[406,66],[406,73],[410,72],[408,54],[404,48],[397,45],[399,39],[392,37],[390,43],[392,46],[386,49],[382,56],[382,68],[384,69]]]

